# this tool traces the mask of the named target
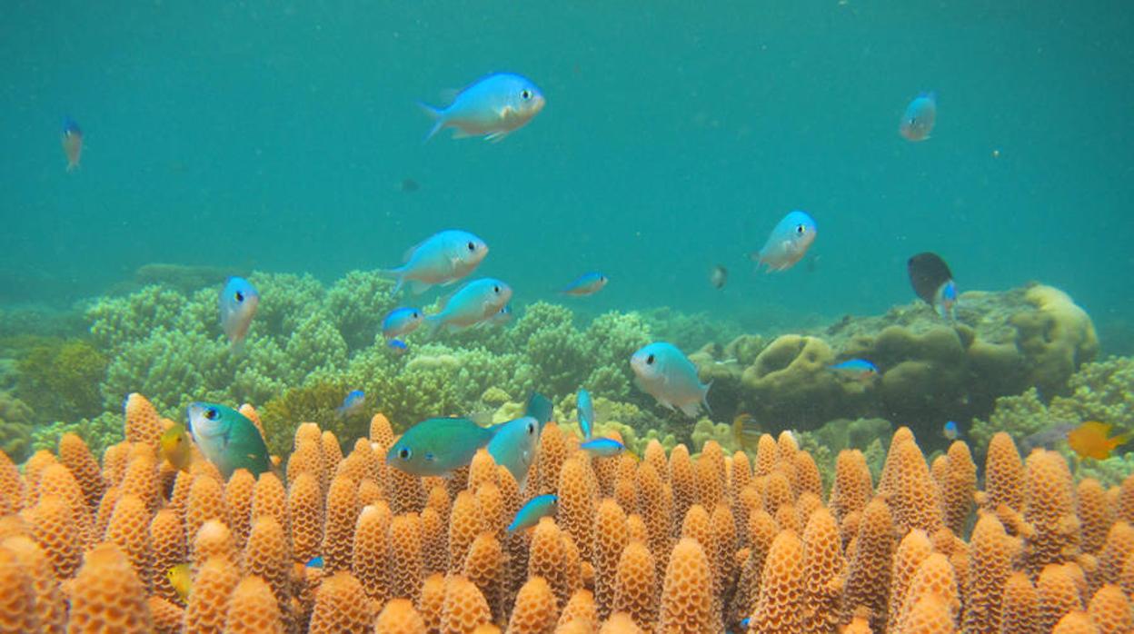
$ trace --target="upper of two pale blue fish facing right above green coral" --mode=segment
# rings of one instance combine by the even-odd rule
[[[489,246],[481,238],[447,229],[409,247],[400,267],[380,272],[397,279],[391,295],[397,295],[406,282],[414,295],[420,295],[434,285],[449,285],[473,272],[488,253]]]

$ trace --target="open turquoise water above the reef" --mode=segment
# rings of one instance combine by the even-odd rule
[[[1042,280],[1122,323],[1134,14],[906,5],[6,2],[0,302],[150,262],[331,280],[460,227],[521,304],[600,269],[584,310],[880,312],[932,250],[962,289]],[[548,107],[500,144],[423,143],[415,101],[493,70]],[[926,90],[938,126],[911,144],[898,117]],[[814,271],[752,274],[793,208],[819,223]]]

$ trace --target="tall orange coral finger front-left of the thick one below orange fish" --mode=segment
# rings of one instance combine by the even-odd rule
[[[1005,583],[1019,552],[1019,540],[1008,536],[991,513],[981,514],[971,540],[968,583],[963,625],[971,634],[998,634]]]

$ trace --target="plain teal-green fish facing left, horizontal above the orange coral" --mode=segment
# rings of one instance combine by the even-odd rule
[[[411,475],[445,475],[472,463],[493,432],[468,419],[426,419],[401,434],[386,463]]]

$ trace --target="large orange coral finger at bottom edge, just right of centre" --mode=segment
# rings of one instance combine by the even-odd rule
[[[712,572],[696,540],[674,547],[661,590],[659,632],[712,632]]]

